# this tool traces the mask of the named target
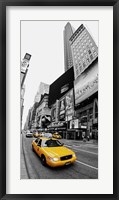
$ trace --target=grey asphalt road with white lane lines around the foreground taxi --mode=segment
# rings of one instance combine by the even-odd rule
[[[98,178],[98,145],[95,143],[61,139],[64,146],[72,149],[77,156],[75,163],[69,166],[44,167],[40,158],[32,151],[32,140],[22,136],[23,154],[26,171],[30,179],[97,179]],[[22,165],[22,162],[21,162]],[[21,166],[22,170],[22,166]]]

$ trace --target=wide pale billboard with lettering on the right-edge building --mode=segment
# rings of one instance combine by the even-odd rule
[[[82,73],[74,82],[75,105],[98,91],[98,63]]]

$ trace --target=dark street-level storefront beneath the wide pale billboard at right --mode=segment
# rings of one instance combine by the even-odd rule
[[[98,133],[98,92],[76,107],[76,117],[79,119],[80,132],[83,134],[83,129],[85,129],[85,137],[96,139],[95,135]]]

